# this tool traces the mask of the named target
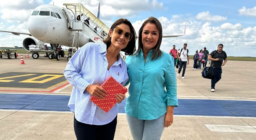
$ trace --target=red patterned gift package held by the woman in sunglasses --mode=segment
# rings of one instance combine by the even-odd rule
[[[100,87],[107,91],[107,97],[105,99],[98,99],[91,96],[90,100],[105,112],[108,112],[116,104],[116,94],[125,94],[127,92],[127,88],[117,82],[112,76],[109,76]]]

